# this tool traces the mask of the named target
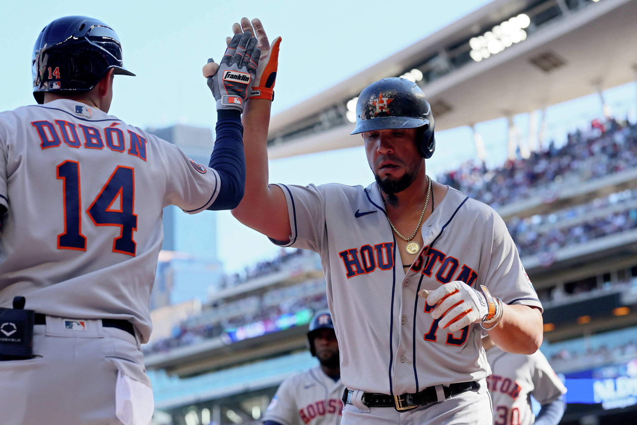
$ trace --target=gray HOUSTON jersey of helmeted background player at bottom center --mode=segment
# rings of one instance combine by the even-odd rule
[[[287,378],[278,387],[262,421],[282,425],[338,425],[343,412],[341,380],[334,382],[320,366]]]

